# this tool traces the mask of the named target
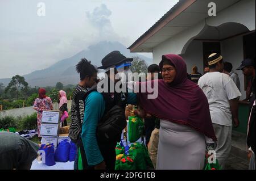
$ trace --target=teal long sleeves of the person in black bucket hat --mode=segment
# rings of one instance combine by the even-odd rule
[[[127,104],[136,104],[137,96],[129,92]],[[91,92],[85,99],[84,122],[82,124],[82,143],[84,145],[86,158],[89,166],[101,163],[104,158],[101,155],[100,148],[96,140],[96,128],[98,121],[104,115],[105,100],[97,91]]]

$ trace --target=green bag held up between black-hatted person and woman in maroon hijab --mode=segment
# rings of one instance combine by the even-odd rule
[[[129,133],[129,141],[135,142],[139,140],[139,138],[142,136],[144,129],[144,122],[141,120],[138,116],[130,116],[129,117],[129,127],[128,127],[128,133]]]

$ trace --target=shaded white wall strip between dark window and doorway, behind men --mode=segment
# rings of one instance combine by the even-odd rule
[[[244,76],[242,74],[242,70],[236,70],[236,68],[241,65],[241,61],[243,60],[243,36],[236,36],[232,39],[221,41],[221,54],[224,58],[224,61],[232,63],[233,70],[238,73],[242,94],[240,100],[245,99],[246,91],[244,89]]]

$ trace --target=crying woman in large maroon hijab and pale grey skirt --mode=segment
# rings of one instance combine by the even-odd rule
[[[176,54],[162,56],[159,64],[162,80],[158,96],[148,99],[148,92],[138,92],[144,111],[160,118],[156,169],[203,169],[206,144],[214,145],[208,100],[195,83],[187,79],[187,66]],[[147,86],[154,81],[141,82]]]

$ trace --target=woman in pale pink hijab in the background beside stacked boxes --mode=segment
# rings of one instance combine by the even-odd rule
[[[65,91],[59,91],[59,110],[61,112],[61,126],[67,126],[67,118],[68,117],[68,99]],[[64,125],[63,125],[64,123]]]

